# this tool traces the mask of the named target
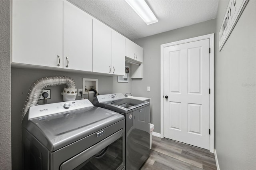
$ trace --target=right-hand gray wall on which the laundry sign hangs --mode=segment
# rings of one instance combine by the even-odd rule
[[[221,0],[220,30],[229,1]],[[221,170],[256,169],[256,1],[250,0],[222,50],[215,37],[215,148]]]

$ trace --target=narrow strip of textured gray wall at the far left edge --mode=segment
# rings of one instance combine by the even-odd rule
[[[0,1],[0,18],[0,170],[10,170],[12,160],[9,0]]]

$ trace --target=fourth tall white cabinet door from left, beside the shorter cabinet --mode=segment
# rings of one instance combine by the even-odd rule
[[[124,75],[125,70],[125,38],[112,30],[112,73]]]

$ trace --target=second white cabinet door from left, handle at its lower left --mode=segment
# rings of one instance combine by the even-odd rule
[[[63,68],[92,71],[92,17],[69,2],[63,5]]]

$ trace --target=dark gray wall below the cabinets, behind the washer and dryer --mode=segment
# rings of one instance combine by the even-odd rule
[[[76,82],[77,88],[82,88],[82,78],[98,79],[98,93],[122,93],[126,91],[128,83],[117,83],[117,77],[108,77],[102,75],[92,75],[83,73],[74,73],[67,71],[51,71],[44,69],[11,69],[12,83],[12,169],[19,170],[21,167],[21,111],[28,89],[30,85],[41,77],[65,75],[69,76]],[[114,85],[114,86],[113,86]],[[47,103],[62,102],[63,96],[60,94],[65,85],[49,87],[51,89],[51,99],[47,99]],[[115,89],[113,90],[113,87]],[[129,87],[130,88],[130,87]],[[114,92],[113,92],[114,91]],[[127,90],[129,91],[129,90]],[[83,97],[88,98],[87,95]],[[93,94],[90,95],[90,101],[93,99]],[[76,97],[80,99],[80,97]],[[40,101],[40,104],[42,101]],[[9,120],[10,123],[10,120]]]

